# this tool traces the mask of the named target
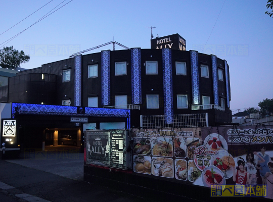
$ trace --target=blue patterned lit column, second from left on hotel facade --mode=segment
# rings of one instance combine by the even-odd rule
[[[102,106],[110,105],[110,50],[102,51]]]

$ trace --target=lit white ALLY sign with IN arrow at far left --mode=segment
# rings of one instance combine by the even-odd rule
[[[16,120],[3,120],[2,143],[6,143],[7,148],[16,147]]]

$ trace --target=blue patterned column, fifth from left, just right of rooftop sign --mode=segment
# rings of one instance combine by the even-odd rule
[[[191,68],[192,68],[193,105],[200,105],[198,52],[190,51],[190,53],[191,53]]]

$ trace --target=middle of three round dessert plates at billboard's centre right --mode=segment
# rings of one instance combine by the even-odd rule
[[[225,179],[233,176],[233,171],[230,166],[235,167],[235,161],[232,155],[225,150],[219,150],[217,155],[212,155],[210,165],[213,165],[222,171]]]

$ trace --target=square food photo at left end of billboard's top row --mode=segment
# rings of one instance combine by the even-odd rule
[[[133,138],[133,154],[151,155],[151,139]]]

